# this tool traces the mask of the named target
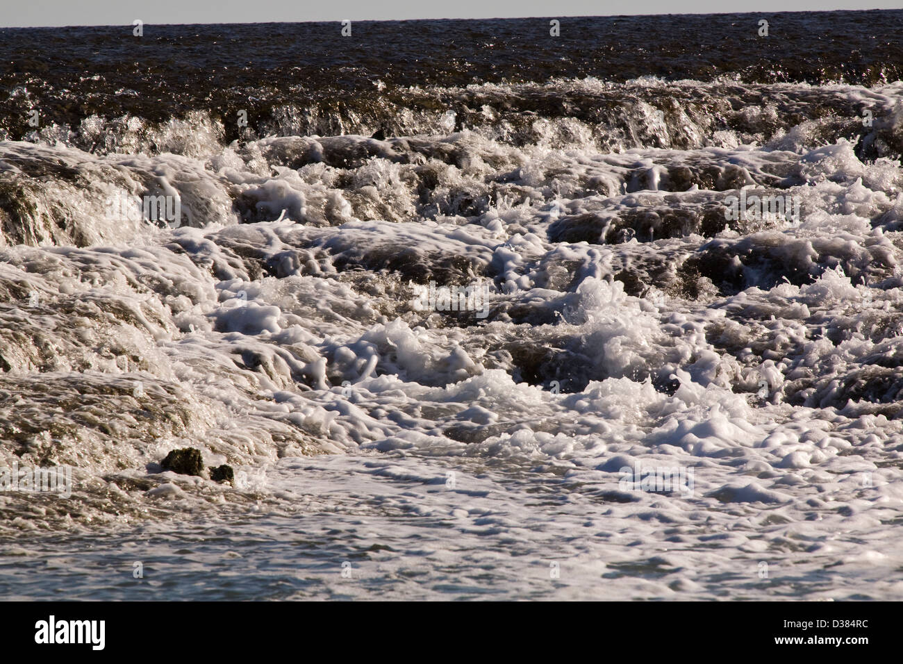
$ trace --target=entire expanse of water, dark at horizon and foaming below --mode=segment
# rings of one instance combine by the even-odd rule
[[[903,596],[903,12],[560,29],[0,29],[0,597]]]

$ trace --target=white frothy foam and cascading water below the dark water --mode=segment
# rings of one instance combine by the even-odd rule
[[[563,87],[612,91],[544,91]],[[814,90],[899,125],[903,84]],[[748,113],[765,126],[773,109]],[[352,565],[368,583],[299,596],[898,596],[890,156],[821,145],[815,120],[712,138],[665,117],[615,146],[573,118],[537,118],[531,142],[439,117],[417,136],[222,146],[195,119],[154,139],[180,154],[0,143],[18,206],[0,248],[0,466],[72,466],[79,502],[67,516],[2,492],[5,537],[225,534],[199,560],[236,554],[246,581],[263,559],[339,577],[379,545]],[[801,219],[726,220],[744,187],[798,197]],[[191,226],[110,219],[115,191],[173,192]],[[485,319],[411,304],[414,285],[478,280]],[[182,447],[240,481],[164,472]],[[635,463],[692,470],[693,491],[624,491]],[[193,520],[173,534],[172,515]],[[319,551],[302,567],[293,532]],[[144,555],[172,569],[166,550]]]

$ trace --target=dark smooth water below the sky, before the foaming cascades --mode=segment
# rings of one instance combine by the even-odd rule
[[[759,37],[762,18],[767,38]],[[245,109],[256,136],[325,136],[391,129],[405,110],[469,109],[452,89],[470,84],[655,76],[871,86],[903,70],[899,11],[560,21],[559,37],[539,18],[354,22],[350,37],[340,23],[145,25],[140,38],[131,25],[0,29],[0,132],[22,138],[31,108],[73,128],[85,117],[160,121],[193,110],[222,120],[231,140]],[[551,101],[507,101],[569,115]]]

